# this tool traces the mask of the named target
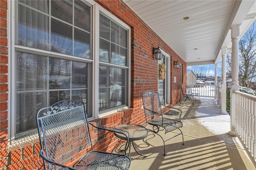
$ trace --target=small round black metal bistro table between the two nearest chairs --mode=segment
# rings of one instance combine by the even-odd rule
[[[130,156],[131,143],[132,143],[134,150],[139,155],[146,157],[146,155],[141,154],[134,147],[134,141],[138,141],[140,139],[146,138],[148,136],[148,129],[146,129],[145,127],[143,127],[141,125],[136,125],[136,124],[122,124],[122,125],[116,126],[115,128],[128,132],[128,134],[129,134],[129,142],[128,142],[129,143],[129,156]],[[116,135],[116,137],[118,137],[120,139],[126,140],[126,137],[122,134],[115,133],[115,135]]]

